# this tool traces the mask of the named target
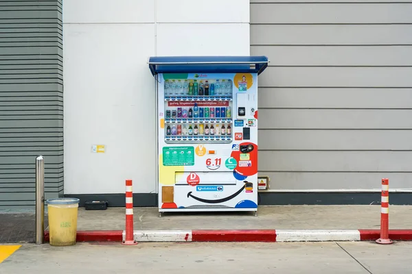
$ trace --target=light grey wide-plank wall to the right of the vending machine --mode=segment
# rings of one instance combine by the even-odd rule
[[[252,0],[260,175],[272,189],[412,188],[412,1]]]

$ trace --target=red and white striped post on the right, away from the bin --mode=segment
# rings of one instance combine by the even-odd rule
[[[380,199],[380,238],[378,244],[389,245],[389,179],[382,179],[382,195]]]

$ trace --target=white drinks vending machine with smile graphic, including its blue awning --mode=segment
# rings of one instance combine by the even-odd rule
[[[258,210],[265,56],[152,57],[159,212]]]

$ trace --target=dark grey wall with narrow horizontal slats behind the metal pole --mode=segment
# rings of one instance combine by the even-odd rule
[[[63,193],[62,1],[0,1],[0,210]]]

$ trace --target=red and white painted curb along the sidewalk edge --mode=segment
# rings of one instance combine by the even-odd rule
[[[78,231],[78,242],[122,242],[126,231]],[[135,230],[136,242],[327,242],[373,241],[379,229]],[[391,240],[412,240],[412,229],[389,230]],[[45,232],[45,241],[49,232]]]

